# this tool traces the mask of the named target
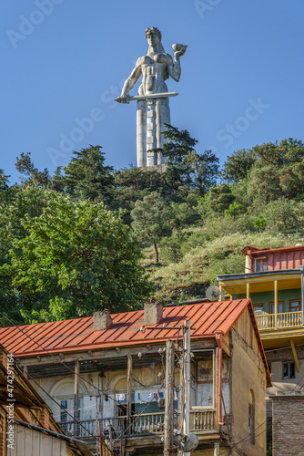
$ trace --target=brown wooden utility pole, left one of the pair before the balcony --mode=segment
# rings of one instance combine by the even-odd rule
[[[174,361],[175,344],[166,342],[166,399],[165,399],[165,436],[164,455],[172,456],[174,440]]]

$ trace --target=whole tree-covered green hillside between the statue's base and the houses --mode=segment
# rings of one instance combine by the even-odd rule
[[[53,176],[37,170],[30,153],[16,160],[20,184],[9,186],[0,171],[5,315],[45,321],[135,309],[153,295],[199,297],[217,274],[243,270],[241,248],[259,243],[245,241],[248,233],[275,233],[261,246],[304,237],[300,140],[236,150],[219,170],[216,155],[199,153],[187,130],[167,126],[165,136],[161,171],[115,171],[100,146],[74,152]]]

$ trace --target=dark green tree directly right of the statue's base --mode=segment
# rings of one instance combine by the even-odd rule
[[[164,138],[167,142],[155,151],[167,157],[167,170],[163,178],[169,190],[180,194],[183,194],[183,188],[186,193],[198,190],[203,195],[210,186],[216,184],[218,157],[211,150],[198,154],[194,149],[198,140],[191,138],[187,130],[179,131],[171,125],[167,125]]]

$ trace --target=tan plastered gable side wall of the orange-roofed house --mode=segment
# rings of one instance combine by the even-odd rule
[[[266,454],[266,372],[259,354],[248,309],[230,332],[233,358],[231,362],[232,434],[236,442],[246,439],[238,449],[246,455]],[[255,443],[248,441],[248,403],[250,389],[254,393]],[[265,432],[262,432],[265,430]],[[262,432],[262,433],[261,433]],[[259,434],[259,435],[258,435]]]

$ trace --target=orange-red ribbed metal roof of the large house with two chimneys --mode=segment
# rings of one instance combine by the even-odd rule
[[[94,331],[93,317],[39,323],[36,325],[0,328],[0,342],[16,357],[51,353],[82,351],[106,347],[127,347],[142,343],[157,343],[176,338],[177,328],[190,320],[191,338],[215,337],[221,331],[226,335],[245,308],[252,305],[249,299],[199,303],[164,308],[163,319],[155,326],[144,326],[144,310],[112,314],[113,325],[105,331]],[[251,312],[250,312],[251,313]],[[253,314],[253,311],[252,311]],[[163,329],[166,324],[167,329]],[[253,320],[257,337],[258,328]]]

